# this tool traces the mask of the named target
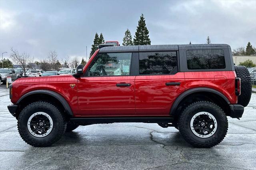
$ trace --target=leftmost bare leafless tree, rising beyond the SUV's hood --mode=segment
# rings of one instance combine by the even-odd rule
[[[11,54],[10,57],[12,58],[12,61],[16,64],[21,65],[24,75],[26,75],[26,72],[28,69],[32,68],[31,63],[34,61],[34,57],[30,57],[27,53],[19,54],[19,52],[16,49],[11,48]]]

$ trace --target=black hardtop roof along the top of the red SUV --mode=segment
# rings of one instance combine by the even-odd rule
[[[182,47],[230,47],[228,44],[129,45],[102,47],[100,53],[132,51],[176,51]]]

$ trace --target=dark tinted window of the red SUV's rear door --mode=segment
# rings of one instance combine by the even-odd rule
[[[140,75],[175,74],[178,72],[176,51],[139,54]]]

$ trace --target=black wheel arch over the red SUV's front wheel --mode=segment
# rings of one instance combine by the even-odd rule
[[[61,105],[64,109],[64,111],[66,111],[66,113],[70,116],[73,116],[73,112],[70,108],[70,105],[68,104],[68,102],[66,101],[66,99],[64,99],[64,97],[62,97],[60,94],[54,92],[54,91],[50,91],[50,90],[34,90],[34,91],[30,91],[28,93],[26,93],[25,95],[23,95],[22,97],[20,97],[20,99],[17,101],[16,105],[21,105],[22,103],[24,103],[25,99],[28,99],[28,97],[35,97],[35,96],[48,96],[50,97],[50,99],[57,101],[58,105]],[[38,98],[40,99],[40,98]],[[36,99],[35,99],[36,100]]]

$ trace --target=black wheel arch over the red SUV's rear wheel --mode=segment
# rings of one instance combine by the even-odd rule
[[[184,99],[188,98],[191,95],[200,94],[200,93],[201,94],[202,93],[208,93],[208,94],[211,93],[212,95],[218,97],[220,100],[225,101],[226,104],[230,104],[230,101],[228,100],[228,98],[217,90],[206,88],[206,87],[193,88],[193,89],[189,89],[189,90],[183,92],[174,101],[172,108],[170,110],[170,115],[176,115],[176,111],[177,111],[178,107],[180,106],[180,104],[182,103],[182,101],[184,101]]]

